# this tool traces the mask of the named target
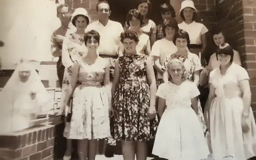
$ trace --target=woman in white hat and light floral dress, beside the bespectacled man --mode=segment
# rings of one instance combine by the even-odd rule
[[[62,49],[62,63],[65,66],[65,72],[63,77],[63,85],[62,85],[62,96],[61,96],[61,106],[65,106],[64,100],[67,95],[67,90],[70,86],[71,75],[72,75],[72,66],[76,60],[83,57],[87,53],[87,48],[84,46],[83,36],[85,34],[85,28],[90,23],[90,18],[88,16],[88,12],[84,8],[77,8],[75,12],[72,14],[71,22],[76,27],[75,33],[69,34],[66,39],[63,41],[63,49]],[[69,119],[71,117],[71,110],[66,111],[65,107],[61,107],[61,112],[68,112],[65,118],[65,129],[63,132],[63,136],[67,138],[67,150],[65,152],[65,156],[63,160],[71,159],[72,152],[72,143],[70,138],[70,122]],[[75,139],[74,137],[72,139]],[[79,148],[78,148],[79,151]]]

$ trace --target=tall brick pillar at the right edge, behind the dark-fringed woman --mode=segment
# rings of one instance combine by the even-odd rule
[[[242,66],[248,71],[256,112],[256,1],[217,0],[217,24],[224,29],[227,42],[239,51]]]

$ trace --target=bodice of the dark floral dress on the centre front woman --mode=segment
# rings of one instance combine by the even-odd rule
[[[125,81],[147,81],[146,78],[147,55],[124,55],[119,57],[120,80]]]

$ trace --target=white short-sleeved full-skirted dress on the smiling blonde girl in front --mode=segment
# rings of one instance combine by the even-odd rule
[[[167,105],[156,134],[152,153],[168,160],[203,160],[209,149],[197,114],[191,107],[191,98],[200,94],[193,82],[180,86],[162,83],[157,91]]]

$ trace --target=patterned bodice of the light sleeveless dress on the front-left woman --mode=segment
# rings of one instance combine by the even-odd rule
[[[78,81],[82,87],[103,85],[106,60],[98,58],[97,61],[92,65],[88,65],[80,60]]]

